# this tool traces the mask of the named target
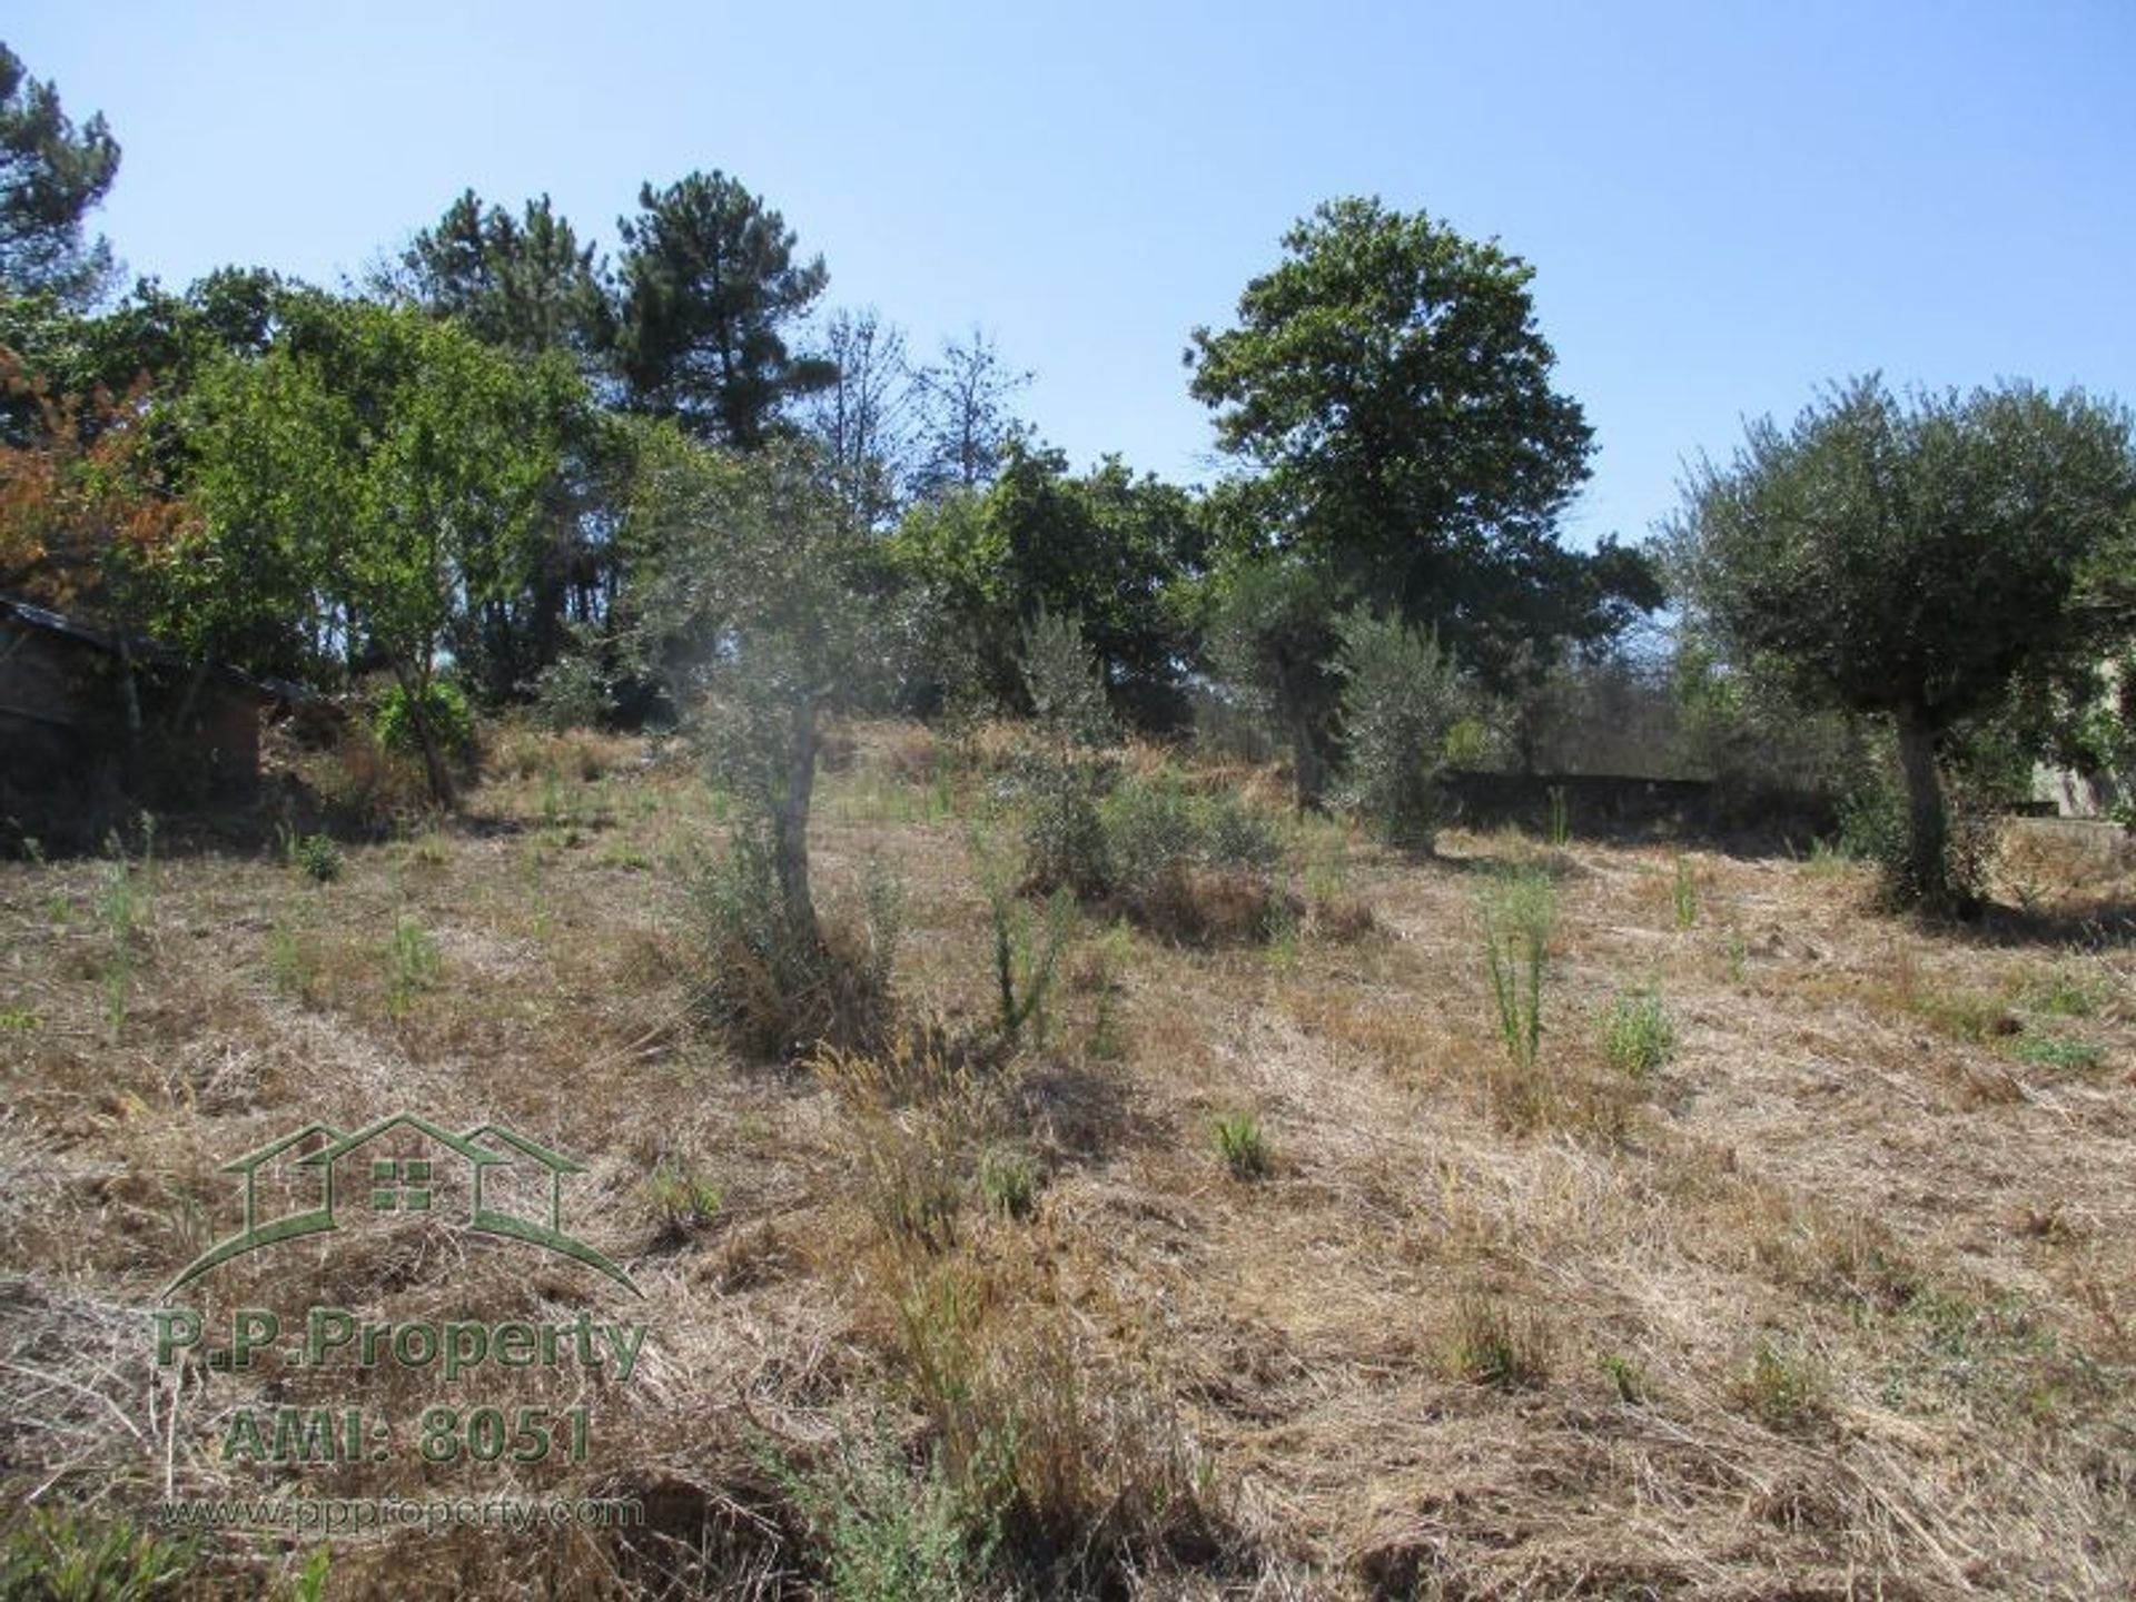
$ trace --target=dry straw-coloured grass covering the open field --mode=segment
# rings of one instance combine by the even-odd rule
[[[1414,861],[1314,822],[1279,874],[1303,916],[1198,944],[1087,921],[1045,1045],[1008,1051],[968,833],[1004,739],[859,728],[824,778],[824,901],[869,859],[904,882],[901,1027],[799,1068],[690,1027],[673,889],[726,814],[637,741],[515,737],[464,816],[344,844],[333,882],[184,839],[0,865],[17,1529],[273,1482],[218,1457],[267,1380],[154,1371],[147,1309],[231,1228],[222,1162],[408,1106],[583,1158],[575,1228],[647,1301],[404,1226],[252,1254],[201,1305],[594,1305],[647,1352],[628,1384],[515,1382],[592,1405],[581,1467],[282,1487],[521,1474],[637,1495],[647,1529],[337,1538],[329,1596],[2136,1587],[2136,959],[2089,921],[2125,857],[2068,874],[2033,831],[2023,912],[1948,931],[1824,859],[1574,818],[1561,848],[1452,831]],[[1555,904],[1534,1066],[1485,972],[1508,869]],[[1670,1025],[1638,1074],[1602,1038],[1625,993]],[[1218,1145],[1241,1113],[1256,1173]],[[440,1397],[380,1371],[363,1401]],[[970,1538],[904,1579],[842,1566],[889,1510]],[[192,1574],[282,1596],[314,1544],[224,1536]]]

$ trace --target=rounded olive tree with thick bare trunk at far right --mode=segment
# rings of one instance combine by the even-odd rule
[[[1907,788],[1903,889],[1950,906],[1939,760],[2027,675],[2087,664],[2108,611],[2098,553],[2136,511],[2130,414],[2001,384],[1895,397],[1860,378],[1792,427],[1702,461],[1664,528],[1685,602],[1726,654],[1803,703],[1892,722]]]

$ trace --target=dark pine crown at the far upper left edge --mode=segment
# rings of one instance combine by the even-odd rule
[[[103,113],[75,128],[49,81],[0,45],[0,288],[92,305],[109,286],[111,246],[83,218],[120,171]]]

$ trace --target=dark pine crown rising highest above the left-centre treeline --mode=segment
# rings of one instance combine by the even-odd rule
[[[788,402],[835,378],[786,333],[829,282],[822,256],[726,173],[639,190],[624,218],[619,355],[630,402],[701,440],[763,446]]]

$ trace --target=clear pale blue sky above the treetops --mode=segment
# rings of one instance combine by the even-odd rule
[[[1600,440],[1572,538],[1824,380],[2136,402],[2136,4],[17,4],[171,286],[363,269],[472,186],[613,248],[722,167],[916,348],[983,325],[1079,464],[1207,481],[1185,395],[1284,229],[1380,194],[1536,273]]]

